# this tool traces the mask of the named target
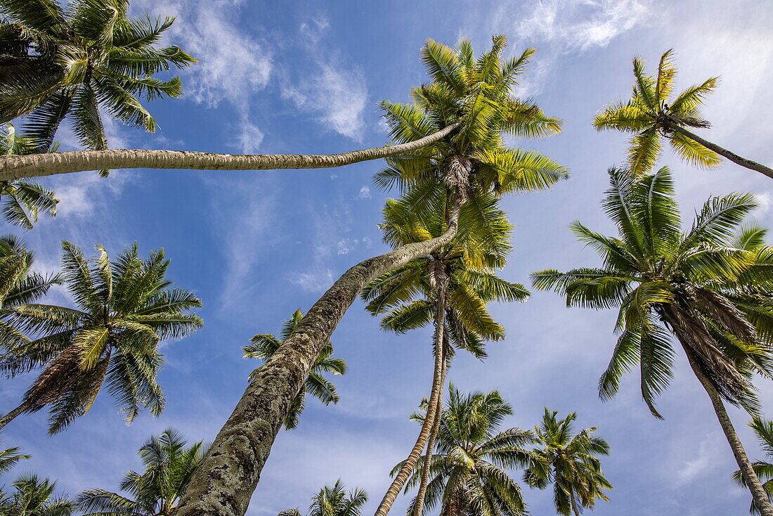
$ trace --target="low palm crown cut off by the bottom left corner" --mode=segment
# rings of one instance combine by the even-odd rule
[[[22,475],[13,484],[14,492],[0,499],[3,516],[70,516],[75,503],[66,496],[54,497],[56,482],[37,475]]]

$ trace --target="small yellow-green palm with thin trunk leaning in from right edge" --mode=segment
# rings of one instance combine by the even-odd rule
[[[710,127],[699,110],[706,96],[717,87],[719,77],[710,77],[701,84],[694,84],[669,100],[676,79],[673,50],[667,50],[660,57],[656,74],[647,75],[644,65],[644,60],[634,58],[635,83],[631,100],[609,105],[594,119],[594,125],[599,131],[617,129],[633,133],[629,142],[631,147],[628,148],[628,166],[634,173],[645,173],[655,166],[662,138],[666,138],[676,154],[693,165],[717,166],[721,155],[731,162],[773,178],[773,169],[742,158],[687,129]]]

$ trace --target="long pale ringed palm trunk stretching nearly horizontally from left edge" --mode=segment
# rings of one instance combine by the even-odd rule
[[[455,128],[458,122],[414,142],[386,145],[358,151],[329,155],[303,154],[213,154],[143,149],[111,149],[101,151],[50,152],[22,156],[0,157],[0,181],[22,177],[53,176],[84,170],[107,169],[189,169],[189,170],[276,170],[325,169],[335,166],[387,158],[421,149],[438,142]]]

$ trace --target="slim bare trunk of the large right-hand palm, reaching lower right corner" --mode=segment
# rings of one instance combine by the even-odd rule
[[[754,468],[751,466],[749,457],[746,455],[741,439],[738,439],[738,435],[733,427],[733,422],[730,421],[730,416],[727,415],[727,410],[724,408],[722,398],[720,398],[717,389],[714,388],[711,381],[707,378],[703,371],[700,369],[700,364],[697,363],[695,355],[688,347],[682,344],[682,347],[687,354],[687,360],[690,361],[690,367],[693,368],[700,384],[706,389],[707,394],[711,400],[711,405],[714,407],[714,412],[717,413],[717,419],[720,421],[722,431],[727,437],[727,443],[730,443],[730,449],[733,450],[735,461],[738,463],[738,467],[741,468],[741,475],[746,481],[746,485],[751,490],[751,497],[754,499],[754,505],[757,506],[758,511],[762,516],[773,516],[773,506],[768,500],[768,494],[765,492],[760,479],[757,477],[757,473],[754,473]]]

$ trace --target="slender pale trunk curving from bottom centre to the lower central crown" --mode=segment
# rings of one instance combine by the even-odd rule
[[[400,468],[400,471],[397,472],[394,480],[392,480],[389,489],[386,490],[386,494],[384,494],[379,507],[376,508],[376,516],[386,516],[386,514],[389,513],[392,504],[397,500],[397,495],[400,494],[400,489],[405,485],[406,480],[410,477],[410,473],[413,473],[416,463],[419,460],[419,456],[421,456],[421,450],[424,449],[424,446],[427,446],[427,440],[434,429],[435,419],[437,419],[439,415],[438,404],[441,403],[440,400],[443,395],[443,385],[445,383],[445,354],[443,343],[445,340],[446,290],[447,289],[444,287],[438,289],[438,312],[435,316],[434,334],[435,361],[434,371],[432,373],[432,390],[430,391],[430,400],[427,403],[427,415],[424,416],[424,422],[421,424],[421,430],[419,431],[419,436],[416,438],[414,447],[410,450],[403,466]],[[429,460],[429,455],[430,453],[427,452],[427,461]],[[422,477],[424,477],[423,474]],[[426,486],[424,491],[426,492]],[[416,507],[421,507],[418,502],[419,500],[417,498],[417,505],[414,506],[414,511],[417,510]],[[422,504],[423,503],[424,502],[422,501]],[[421,514],[421,509],[419,509],[419,511]]]

